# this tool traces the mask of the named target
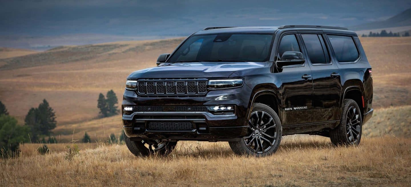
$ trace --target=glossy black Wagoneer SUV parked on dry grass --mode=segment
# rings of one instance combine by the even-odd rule
[[[192,140],[264,156],[290,134],[358,145],[373,112],[371,66],[346,28],[205,28],[157,65],[127,77],[122,120],[134,155]]]

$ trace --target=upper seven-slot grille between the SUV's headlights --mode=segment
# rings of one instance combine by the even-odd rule
[[[204,95],[207,79],[140,79],[139,95]]]

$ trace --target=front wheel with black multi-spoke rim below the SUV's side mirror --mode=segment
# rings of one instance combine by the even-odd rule
[[[254,103],[248,122],[247,136],[241,141],[229,142],[231,150],[237,155],[257,157],[271,155],[277,151],[282,137],[281,122],[277,113],[265,104]]]

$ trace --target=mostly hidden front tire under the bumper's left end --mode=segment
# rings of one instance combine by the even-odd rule
[[[127,148],[133,155],[148,156],[148,155],[168,155],[173,151],[177,142],[162,141],[162,140],[142,140],[131,141],[129,137],[124,135],[124,140]],[[157,142],[160,141],[160,142]]]

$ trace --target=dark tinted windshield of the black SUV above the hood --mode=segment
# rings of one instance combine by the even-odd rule
[[[271,40],[269,34],[193,35],[168,62],[266,62],[270,58]]]

